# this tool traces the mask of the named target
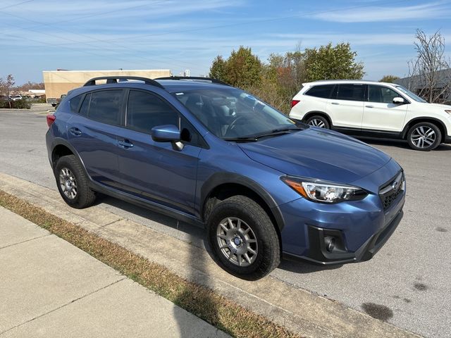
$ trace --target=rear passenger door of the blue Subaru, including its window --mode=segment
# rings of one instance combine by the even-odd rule
[[[118,187],[117,134],[121,128],[123,89],[88,93],[78,113],[68,120],[70,144],[78,151],[92,180]]]

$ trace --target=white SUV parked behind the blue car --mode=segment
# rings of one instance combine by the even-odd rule
[[[290,118],[367,137],[407,139],[429,151],[451,143],[451,106],[428,104],[394,83],[328,80],[304,83]]]

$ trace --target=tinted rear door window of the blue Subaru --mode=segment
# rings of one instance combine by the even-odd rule
[[[122,89],[93,92],[89,104],[88,118],[109,125],[120,124],[122,98]]]

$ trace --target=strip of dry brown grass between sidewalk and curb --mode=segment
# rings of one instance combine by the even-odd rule
[[[299,337],[211,289],[188,282],[162,265],[1,190],[0,206],[49,230],[233,337]]]

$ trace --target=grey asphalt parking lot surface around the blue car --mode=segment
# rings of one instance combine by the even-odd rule
[[[46,131],[43,113],[1,110],[0,172],[56,189]],[[405,170],[407,200],[396,232],[371,261],[327,268],[283,261],[273,276],[426,337],[450,337],[451,145],[425,153],[403,142],[365,141],[393,156]],[[203,245],[197,227],[106,197],[101,206]]]

